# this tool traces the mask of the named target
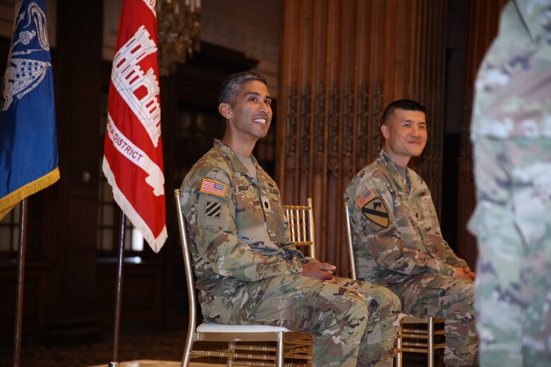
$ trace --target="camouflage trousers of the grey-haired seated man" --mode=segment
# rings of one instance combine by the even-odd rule
[[[314,366],[392,366],[400,301],[384,287],[352,279],[337,284],[300,274],[247,283],[247,299],[220,314],[227,324],[264,324],[307,332]]]

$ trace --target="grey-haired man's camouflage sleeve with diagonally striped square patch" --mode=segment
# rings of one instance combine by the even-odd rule
[[[185,210],[190,236],[199,254],[213,272],[223,277],[254,282],[275,275],[302,272],[300,259],[284,258],[279,253],[266,255],[253,251],[249,243],[239,238],[235,223],[234,193],[230,180],[220,172],[209,172],[203,178],[222,183],[222,190],[201,191],[199,179],[189,188],[189,210]]]

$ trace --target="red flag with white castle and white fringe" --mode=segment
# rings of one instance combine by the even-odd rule
[[[109,85],[103,172],[158,252],[167,239],[155,0],[124,0]]]

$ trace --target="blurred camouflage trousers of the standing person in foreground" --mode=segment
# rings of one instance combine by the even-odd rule
[[[480,366],[551,366],[551,141],[477,138]]]

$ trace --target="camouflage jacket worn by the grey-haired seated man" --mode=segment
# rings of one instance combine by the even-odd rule
[[[248,282],[299,273],[302,263],[312,261],[285,240],[288,222],[278,186],[252,161],[257,178],[215,140],[182,183],[196,287],[208,320],[246,297],[242,286]]]

